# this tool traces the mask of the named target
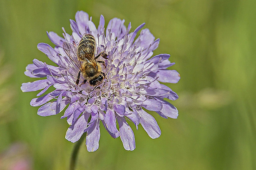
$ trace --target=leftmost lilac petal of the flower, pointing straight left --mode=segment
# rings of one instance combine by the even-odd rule
[[[36,80],[33,82],[28,82],[28,83],[22,83],[21,85],[21,90],[22,92],[34,92],[37,90],[44,89],[51,83],[45,79],[45,80]]]

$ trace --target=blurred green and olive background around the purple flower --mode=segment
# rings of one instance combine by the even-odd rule
[[[255,170],[255,7],[255,0],[0,0],[0,167],[21,143],[31,169],[68,169],[74,144],[64,138],[66,119],[38,116],[29,105],[37,92],[20,86],[35,80],[24,75],[34,58],[53,64],[37,49],[54,46],[46,31],[71,33],[69,19],[83,10],[95,25],[100,14],[105,24],[118,17],[132,30],[145,22],[160,38],[154,55],[171,54],[181,79],[168,84],[180,96],[172,102],[178,119],[152,113],[159,138],[131,125],[136,149],[129,152],[100,124],[100,148],[89,153],[83,145],[77,169]]]

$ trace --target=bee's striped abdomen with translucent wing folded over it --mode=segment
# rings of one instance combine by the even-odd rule
[[[78,53],[80,53],[80,58],[78,58],[98,67],[95,58],[95,46],[95,38],[91,34],[83,34],[83,38],[78,46]]]

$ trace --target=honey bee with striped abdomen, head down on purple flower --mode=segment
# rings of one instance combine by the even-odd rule
[[[91,34],[83,34],[78,46],[74,44],[74,42],[72,44],[65,41],[63,42],[63,49],[70,60],[73,61],[80,70],[77,76],[76,85],[79,84],[80,74],[85,78],[82,84],[89,80],[91,86],[100,85],[106,77],[106,74],[102,72],[101,65],[98,65],[98,63],[101,63],[104,67],[106,66],[104,61],[97,61],[96,59],[100,56],[107,59],[107,54],[102,51],[95,56],[95,38]]]

